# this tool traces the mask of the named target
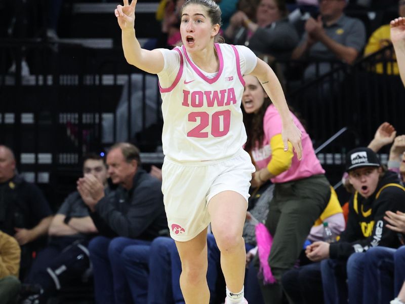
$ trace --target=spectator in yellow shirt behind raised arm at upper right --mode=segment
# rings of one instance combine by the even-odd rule
[[[399,0],[398,1],[398,15],[405,16],[405,1]],[[391,26],[389,24],[385,24],[380,26],[376,29],[370,36],[369,42],[366,45],[364,55],[370,55],[373,53],[378,52],[379,50],[391,45],[391,37],[390,37],[390,30]],[[383,63],[377,63],[375,67],[375,71],[379,74],[382,74],[384,71],[387,74],[394,74],[398,75],[398,65],[395,62],[395,56],[391,50],[387,50],[384,54],[381,54],[379,57],[384,57],[385,61],[387,61],[387,65],[385,66]]]

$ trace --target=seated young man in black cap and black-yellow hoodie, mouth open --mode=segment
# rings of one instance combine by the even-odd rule
[[[373,150],[359,147],[346,155],[346,171],[355,193],[349,200],[345,231],[336,243],[315,242],[306,249],[320,269],[325,303],[362,303],[363,252],[375,246],[398,248],[386,227],[387,210],[405,211],[405,188],[396,173],[383,167]],[[347,284],[346,284],[347,280]]]

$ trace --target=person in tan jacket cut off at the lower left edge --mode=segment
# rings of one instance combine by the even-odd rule
[[[20,268],[20,246],[11,236],[0,231],[0,302],[17,303],[20,281],[17,279]]]

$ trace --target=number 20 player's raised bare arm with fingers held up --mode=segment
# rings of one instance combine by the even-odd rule
[[[135,35],[135,6],[137,0],[124,0],[124,6],[118,5],[115,16],[122,30],[123,50],[127,62],[145,72],[157,74],[165,65],[163,55],[158,50],[144,50]]]

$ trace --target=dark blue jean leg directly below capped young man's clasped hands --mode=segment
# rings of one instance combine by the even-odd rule
[[[320,271],[325,304],[347,304],[346,261],[322,260]]]

